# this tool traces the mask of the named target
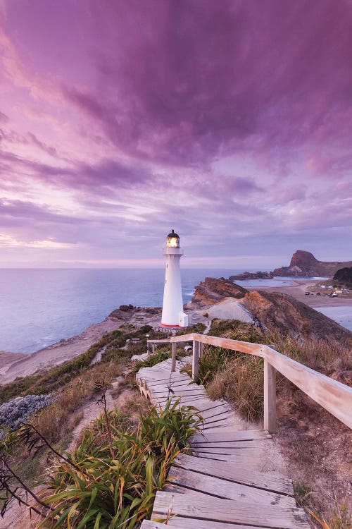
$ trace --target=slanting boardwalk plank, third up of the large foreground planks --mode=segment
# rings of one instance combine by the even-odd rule
[[[230,461],[212,461],[187,454],[179,454],[175,459],[175,465],[181,468],[194,470],[205,475],[213,475],[225,480],[243,483],[244,485],[251,485],[272,492],[279,492],[279,494],[294,494],[294,487],[292,481],[278,475],[269,475],[248,468],[237,466]]]

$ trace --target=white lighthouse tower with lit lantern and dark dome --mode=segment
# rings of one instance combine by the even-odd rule
[[[163,248],[166,258],[163,314],[163,327],[187,327],[188,316],[183,312],[180,259],[183,251],[180,248],[180,237],[171,231],[166,237]]]

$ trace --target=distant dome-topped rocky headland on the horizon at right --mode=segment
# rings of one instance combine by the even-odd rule
[[[297,250],[288,267],[275,268],[273,276],[333,276],[341,267],[351,267],[352,261],[318,261],[313,253]]]

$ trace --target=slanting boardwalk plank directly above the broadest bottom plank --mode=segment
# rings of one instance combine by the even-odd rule
[[[291,496],[284,496],[268,490],[257,489],[242,483],[234,483],[222,478],[200,474],[192,470],[184,470],[172,466],[168,474],[168,482],[192,490],[210,494],[222,499],[234,499],[260,505],[279,505],[296,507],[296,501]]]

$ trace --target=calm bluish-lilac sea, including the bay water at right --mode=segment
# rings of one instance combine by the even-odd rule
[[[184,303],[206,276],[234,269],[181,269]],[[0,269],[0,351],[33,353],[101,322],[120,305],[161,306],[164,269]],[[243,286],[288,286],[291,279],[238,281]],[[352,330],[351,308],[318,308]],[[329,312],[329,313],[327,313]]]

